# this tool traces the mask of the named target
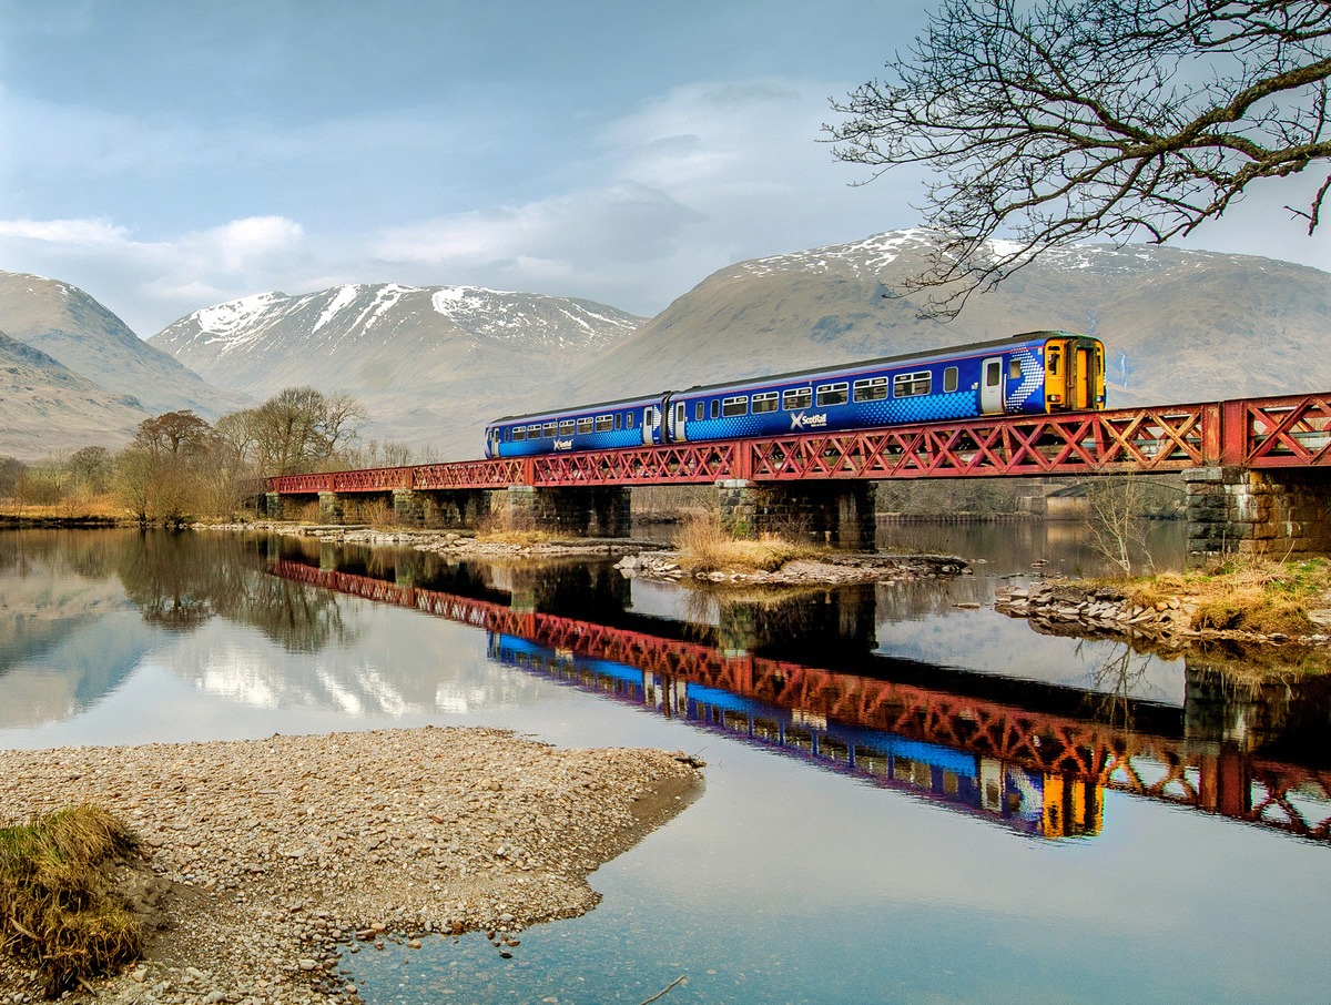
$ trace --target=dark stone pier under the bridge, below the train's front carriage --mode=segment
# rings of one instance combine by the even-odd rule
[[[873,551],[873,482],[716,483],[721,523],[739,536],[780,534],[847,551]]]

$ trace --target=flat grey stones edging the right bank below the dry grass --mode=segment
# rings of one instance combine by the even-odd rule
[[[1143,607],[1134,604],[1113,587],[1082,587],[1059,582],[1037,583],[1029,588],[1013,586],[996,592],[994,610],[1010,618],[1025,618],[1037,630],[1075,627],[1098,634],[1146,638],[1166,648],[1185,648],[1193,643],[1211,642],[1307,647],[1331,644],[1331,634],[1327,632],[1291,636],[1283,632],[1194,628],[1193,614],[1197,604],[1186,596]]]

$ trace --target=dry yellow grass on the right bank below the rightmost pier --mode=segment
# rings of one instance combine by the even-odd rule
[[[1298,635],[1315,626],[1307,612],[1327,606],[1331,560],[1242,558],[1195,572],[1161,572],[1114,583],[1135,604],[1173,599],[1197,604],[1194,628]]]

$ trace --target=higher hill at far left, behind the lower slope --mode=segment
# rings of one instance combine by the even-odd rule
[[[59,359],[112,395],[133,395],[150,414],[193,409],[205,419],[214,419],[253,403],[244,394],[210,387],[67,282],[0,273],[0,330]]]

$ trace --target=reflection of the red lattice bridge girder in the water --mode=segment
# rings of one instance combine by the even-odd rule
[[[1098,812],[1090,803],[1093,793],[1103,787],[1331,840],[1331,769],[1255,757],[1219,743],[1219,737],[1139,736],[1095,721],[984,698],[761,656],[732,656],[697,643],[514,611],[490,600],[397,586],[298,562],[278,560],[270,568],[286,579],[523,639],[543,651],[632,667],[647,675],[644,682],[660,682],[663,694],[672,692],[676,682],[685,682],[688,687],[709,688],[716,695],[797,712],[811,736],[827,737],[827,749],[845,745],[847,728],[874,731],[976,759],[1020,765],[1042,772],[1047,779],[1057,776],[1066,783],[1065,792],[1083,793],[1083,808],[1075,816],[1086,827]],[[716,700],[704,705],[721,708]],[[725,728],[724,709],[717,715],[716,724]],[[820,723],[823,725],[815,725]],[[743,725],[740,720],[732,724],[741,733],[755,729],[748,713]],[[866,755],[872,761],[872,752]],[[857,756],[853,747],[847,763],[851,756]],[[1074,823],[1065,819],[1062,832],[1069,832],[1066,828]]]

